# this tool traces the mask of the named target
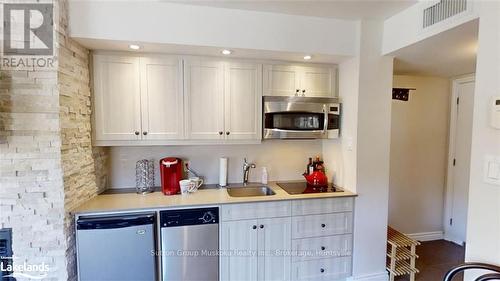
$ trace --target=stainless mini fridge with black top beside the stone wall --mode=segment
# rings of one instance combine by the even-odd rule
[[[154,213],[79,217],[78,280],[155,281]]]

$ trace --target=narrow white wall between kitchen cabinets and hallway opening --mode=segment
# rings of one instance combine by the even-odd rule
[[[382,22],[361,26],[353,273],[369,280],[387,280],[393,59],[382,56],[382,31]]]

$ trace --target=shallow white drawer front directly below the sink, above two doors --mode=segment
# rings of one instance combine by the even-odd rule
[[[221,220],[245,220],[290,216],[290,201],[222,205]]]

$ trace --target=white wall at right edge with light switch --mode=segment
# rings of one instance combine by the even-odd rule
[[[500,2],[481,2],[472,128],[466,261],[500,266],[500,186],[483,181],[484,157],[500,156],[500,130],[488,125],[492,97],[500,95]],[[467,275],[465,280],[474,280]]]

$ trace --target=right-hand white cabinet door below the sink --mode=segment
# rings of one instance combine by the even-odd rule
[[[258,280],[290,280],[291,218],[259,220]]]

